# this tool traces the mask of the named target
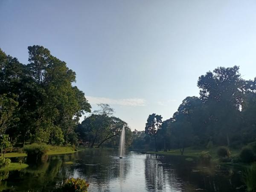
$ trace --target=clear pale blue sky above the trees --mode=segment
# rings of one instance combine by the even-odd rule
[[[27,64],[31,45],[76,72],[92,110],[108,103],[144,130],[149,114],[169,119],[199,96],[207,71],[256,77],[256,1],[0,0],[0,48]]]

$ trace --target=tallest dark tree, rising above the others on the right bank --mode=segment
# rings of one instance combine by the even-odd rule
[[[241,105],[243,101],[244,83],[239,67],[218,67],[212,72],[199,77],[198,87],[200,99],[207,105],[211,127],[215,134],[226,136],[226,144],[230,145],[230,134],[239,128]],[[220,144],[221,140],[219,141]]]

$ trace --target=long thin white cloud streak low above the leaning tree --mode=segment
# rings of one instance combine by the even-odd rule
[[[85,96],[90,104],[107,103],[109,105],[121,105],[121,106],[145,106],[146,100],[140,98],[131,99],[110,99],[106,97],[92,97]]]

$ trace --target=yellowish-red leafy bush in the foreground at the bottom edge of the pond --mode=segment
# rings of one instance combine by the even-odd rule
[[[89,184],[81,178],[69,178],[61,186],[61,192],[87,192]]]

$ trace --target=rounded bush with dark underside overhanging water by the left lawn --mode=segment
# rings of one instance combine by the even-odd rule
[[[48,146],[46,144],[33,143],[31,145],[25,145],[23,150],[28,155],[28,162],[38,162],[47,157]]]

